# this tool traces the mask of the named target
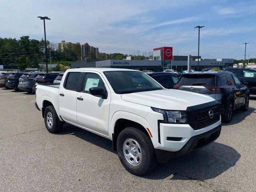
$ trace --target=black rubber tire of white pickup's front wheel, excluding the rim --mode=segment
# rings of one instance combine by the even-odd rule
[[[135,140],[139,147],[137,148],[138,153],[141,153],[140,164],[132,165],[125,157],[123,146],[126,140]],[[139,148],[141,148],[139,150]],[[117,138],[117,152],[118,157],[124,166],[124,168],[131,174],[142,176],[150,173],[157,165],[156,154],[154,146],[150,138],[141,130],[134,127],[127,127],[119,134]],[[128,152],[128,150],[126,150]],[[136,152],[135,152],[136,153]],[[130,154],[130,153],[128,153]],[[135,154],[136,155],[136,154]],[[136,158],[138,158],[137,156]],[[132,158],[130,158],[132,159]],[[137,159],[138,160],[138,159]]]

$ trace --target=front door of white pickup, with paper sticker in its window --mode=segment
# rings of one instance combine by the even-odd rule
[[[78,125],[108,136],[108,118],[110,108],[110,90],[102,75],[98,72],[85,71],[82,92],[76,99]],[[106,99],[93,96],[89,88],[100,87],[107,92]]]

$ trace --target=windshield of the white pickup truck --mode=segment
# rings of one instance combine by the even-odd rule
[[[156,81],[142,72],[105,71],[104,74],[117,94],[163,89]]]

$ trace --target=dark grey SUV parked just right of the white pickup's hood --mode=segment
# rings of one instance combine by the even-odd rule
[[[206,94],[216,99],[220,103],[222,120],[226,123],[231,122],[234,109],[241,107],[244,111],[248,110],[249,90],[232,72],[183,74],[174,88]]]

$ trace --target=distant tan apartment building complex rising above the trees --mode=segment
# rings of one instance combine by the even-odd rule
[[[86,59],[90,55],[90,51],[94,52],[95,57],[99,57],[99,48],[90,46],[88,43],[80,44],[79,42],[71,43],[65,42],[64,40],[61,43],[58,43],[58,50],[64,51],[65,48],[70,48],[72,51],[76,52],[77,56],[82,59]]]

